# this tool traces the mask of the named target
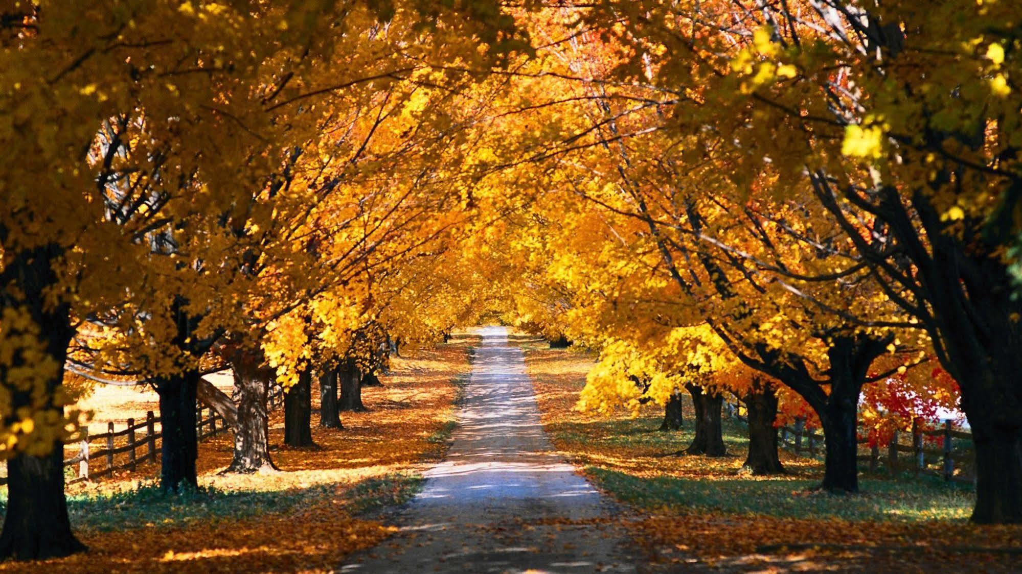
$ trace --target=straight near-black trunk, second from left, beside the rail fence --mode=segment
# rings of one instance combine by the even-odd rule
[[[199,372],[190,369],[160,379],[154,385],[159,394],[160,470],[159,483],[165,491],[178,492],[182,487],[198,487],[195,461],[198,459],[196,436],[196,393]]]

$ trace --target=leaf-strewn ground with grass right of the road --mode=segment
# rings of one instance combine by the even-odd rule
[[[594,357],[548,349],[519,338],[556,447],[598,486],[636,509],[629,519],[651,560],[670,566],[698,562],[725,569],[815,571],[1018,571],[1022,526],[980,527],[967,518],[968,488],[936,480],[864,476],[863,493],[812,490],[821,462],[782,452],[790,474],[740,476],[746,439],[726,420],[732,457],[668,456],[692,439],[686,430],[659,432],[655,406],[637,419],[572,410]],[[993,549],[989,549],[993,548]]]

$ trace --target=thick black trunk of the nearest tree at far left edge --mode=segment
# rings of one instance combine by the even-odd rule
[[[7,229],[0,225],[0,244],[5,244],[6,238]],[[53,377],[45,382],[43,398],[48,410],[61,418],[63,408],[53,404],[52,398],[63,381],[67,345],[75,330],[69,306],[62,302],[51,304],[46,299],[47,290],[58,283],[53,264],[62,253],[59,245],[49,244],[17,253],[8,249],[0,254],[0,285],[3,286],[0,308],[27,309],[39,326],[38,336],[44,337],[46,357],[57,367]],[[7,327],[11,331],[7,336],[28,334]],[[7,364],[0,365],[0,382],[4,383],[8,408],[12,412],[20,406],[39,405],[38,395],[8,383],[8,370],[25,366],[25,360],[20,353],[14,353],[7,357]],[[44,457],[19,452],[7,461],[7,510],[0,532],[0,560],[57,558],[86,549],[72,533],[67,518],[63,445],[53,440],[51,447],[50,453]]]

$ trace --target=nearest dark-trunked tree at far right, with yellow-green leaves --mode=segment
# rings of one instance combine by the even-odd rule
[[[849,240],[834,244],[847,265],[827,274],[874,282],[961,384],[980,469],[973,519],[1022,520],[1019,310],[1004,257],[1019,181],[1011,8],[753,4],[631,5],[643,17],[622,35],[688,55],[670,82],[705,79],[715,104],[677,125],[728,133],[717,150],[736,179],[771,159],[784,188],[811,190]],[[728,42],[727,66],[703,57]]]

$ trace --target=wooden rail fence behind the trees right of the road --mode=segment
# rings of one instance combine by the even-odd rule
[[[745,417],[729,405],[729,414],[748,424]],[[861,435],[868,434],[863,429]],[[793,450],[796,457],[816,457],[826,451],[823,433],[817,429],[805,429],[804,419],[798,418],[792,426],[778,429],[781,446]],[[940,437],[940,447],[927,447],[924,437]],[[903,444],[902,442],[907,442]],[[881,465],[889,474],[912,472],[916,475],[938,476],[948,482],[975,482],[976,455],[972,448],[972,434],[957,430],[951,421],[944,421],[937,429],[923,429],[913,423],[911,432],[894,431],[891,441],[884,447],[870,444],[869,438],[860,438],[858,462],[869,465],[869,472],[879,472]],[[865,451],[865,453],[864,453]],[[903,457],[901,453],[908,453]]]

